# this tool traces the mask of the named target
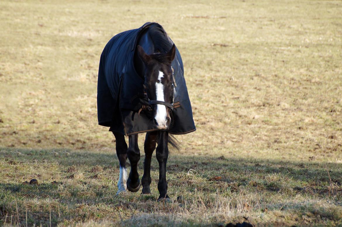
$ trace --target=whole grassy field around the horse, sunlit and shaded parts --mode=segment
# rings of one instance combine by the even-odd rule
[[[166,204],[155,158],[150,196],[115,196],[97,125],[100,54],[147,21],[181,52],[197,127]],[[0,28],[0,225],[342,226],[341,1],[3,0]]]

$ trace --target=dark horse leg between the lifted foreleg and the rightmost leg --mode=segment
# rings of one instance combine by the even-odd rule
[[[143,194],[151,193],[149,188],[151,184],[151,159],[153,151],[156,149],[158,132],[148,132],[146,133],[144,151],[145,151],[145,161],[144,161],[144,175],[141,178],[141,184],[143,185]]]

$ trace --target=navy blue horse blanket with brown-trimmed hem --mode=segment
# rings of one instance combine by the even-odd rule
[[[111,38],[101,54],[97,81],[97,118],[98,124],[110,127],[109,131],[127,136],[158,130],[148,111],[138,114],[143,105],[148,105],[148,99],[144,95],[144,78],[137,74],[133,64],[139,36],[151,26],[160,26],[164,31],[161,25],[148,22],[140,28],[121,32]],[[169,132],[186,134],[195,131],[196,127],[178,49],[171,65],[177,85],[174,97],[177,108],[170,113]]]

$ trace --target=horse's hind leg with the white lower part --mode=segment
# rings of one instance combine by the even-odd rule
[[[127,160],[127,144],[124,135],[114,133],[116,140],[116,155],[119,159],[120,164],[120,176],[118,181],[118,195],[120,192],[127,190],[127,171],[126,171],[126,160]]]

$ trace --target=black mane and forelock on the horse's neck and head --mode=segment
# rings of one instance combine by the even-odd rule
[[[165,55],[172,48],[172,41],[167,37],[166,32],[159,26],[151,26],[148,29],[148,35],[153,41],[156,53],[153,57],[161,63],[170,65],[169,56]]]

